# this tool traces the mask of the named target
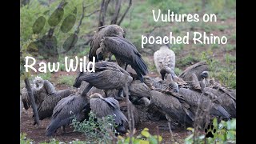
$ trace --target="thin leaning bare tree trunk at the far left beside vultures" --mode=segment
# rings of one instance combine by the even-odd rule
[[[29,82],[28,78],[25,78],[24,81],[25,81],[27,93],[29,94],[29,97],[30,97],[30,102],[32,105],[33,113],[34,113],[34,121],[38,124],[38,126],[40,126],[40,121],[39,121],[39,116],[38,116],[38,106],[35,104],[34,95],[32,93],[31,87],[30,87],[30,82]]]

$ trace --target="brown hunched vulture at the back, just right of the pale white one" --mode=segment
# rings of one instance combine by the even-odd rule
[[[202,74],[203,71],[209,70],[206,62],[198,62],[195,63],[192,66],[189,66],[182,72],[182,74],[179,74],[178,78],[182,78],[184,81],[191,81],[192,74],[195,74],[201,81],[200,74]]]

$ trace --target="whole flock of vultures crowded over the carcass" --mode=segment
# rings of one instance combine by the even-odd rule
[[[95,72],[78,72],[74,88],[56,90],[48,80],[34,78],[31,89],[39,119],[51,118],[46,136],[57,133],[60,127],[65,132],[74,115],[78,121],[86,120],[90,110],[97,118],[114,115],[116,130],[121,134],[129,129],[128,119],[135,128],[140,124],[142,110],[150,120],[165,119],[167,128],[204,128],[213,118],[236,118],[236,91],[210,78],[206,62],[189,66],[177,76],[175,54],[168,46],[162,46],[154,53],[159,77],[152,78],[147,75],[142,55],[117,25],[98,28],[90,42],[90,61],[93,57]],[[31,107],[26,88],[21,90],[21,102],[26,110]]]

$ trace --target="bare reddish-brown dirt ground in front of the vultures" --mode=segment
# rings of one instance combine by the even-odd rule
[[[63,134],[62,129],[59,129],[57,131],[57,134],[54,134],[52,137],[46,137],[46,127],[50,123],[50,118],[46,118],[41,121],[41,126],[33,126],[34,118],[32,118],[33,110],[23,110],[22,111],[22,117],[20,122],[20,131],[21,133],[26,133],[26,138],[33,139],[34,142],[50,142],[50,139],[55,138],[56,140],[60,142],[71,142],[76,139],[86,141],[86,136],[79,132],[73,132],[73,128],[71,126],[66,127],[67,133]],[[169,143],[170,142],[170,131],[169,130],[158,130],[157,126],[167,124],[167,121],[145,121],[141,122],[137,127],[137,134],[139,134],[145,127],[150,130],[150,134],[160,134],[163,138],[162,143]],[[188,136],[188,133],[186,130],[182,130],[177,128],[176,130],[173,130],[174,138],[178,141],[178,143],[182,142],[182,139],[186,138]]]

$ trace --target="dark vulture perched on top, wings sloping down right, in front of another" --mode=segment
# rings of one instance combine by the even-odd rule
[[[120,37],[105,37],[100,45],[96,52],[97,58],[102,58],[102,54],[109,52],[114,54],[119,66],[123,67],[124,63],[126,63],[126,70],[126,67],[130,65],[136,71],[140,81],[143,82],[142,75],[148,73],[146,62],[144,62],[141,54],[131,42]]]

